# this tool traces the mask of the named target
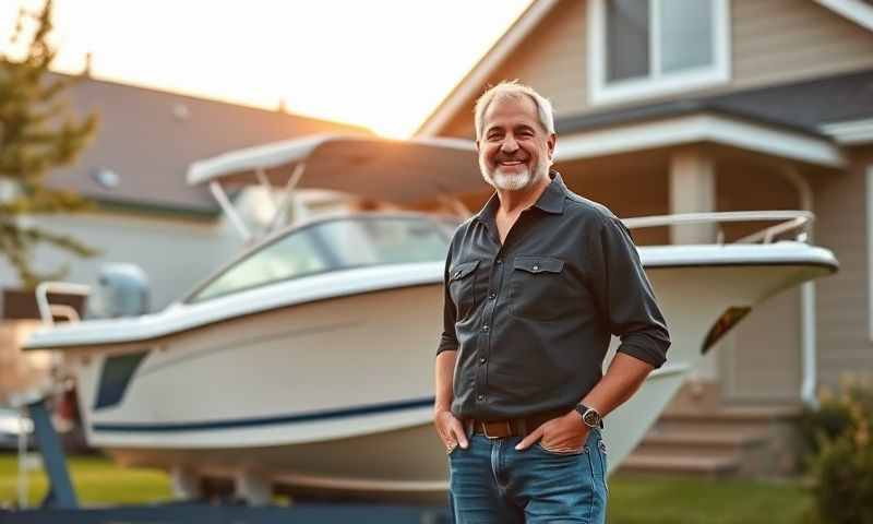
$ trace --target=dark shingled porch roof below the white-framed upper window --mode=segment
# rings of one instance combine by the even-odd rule
[[[715,112],[824,138],[833,122],[873,118],[873,69],[816,80],[561,118],[559,132]]]

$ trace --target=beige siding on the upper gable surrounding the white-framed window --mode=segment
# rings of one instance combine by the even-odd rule
[[[587,102],[586,2],[563,0],[489,79],[519,79],[549,96],[558,118],[873,68],[873,32],[810,0],[729,0],[731,81],[716,87],[593,108]],[[473,100],[445,134],[473,135]]]

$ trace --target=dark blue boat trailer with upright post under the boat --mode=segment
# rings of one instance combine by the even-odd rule
[[[3,524],[449,524],[447,507],[385,503],[301,502],[288,507],[250,507],[171,501],[143,505],[83,508],[70,478],[67,457],[45,400],[28,402],[36,445],[41,452],[49,490],[39,508],[0,509]]]

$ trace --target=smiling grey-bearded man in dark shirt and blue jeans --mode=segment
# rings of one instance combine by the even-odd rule
[[[550,171],[549,102],[504,82],[475,123],[495,194],[450,246],[435,364],[455,520],[602,523],[600,419],[663,364],[669,334],[624,225]]]

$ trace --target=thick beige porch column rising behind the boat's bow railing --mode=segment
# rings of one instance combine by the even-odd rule
[[[716,211],[715,162],[698,148],[675,152],[670,157],[670,213]],[[670,226],[671,243],[711,243],[716,224]]]

